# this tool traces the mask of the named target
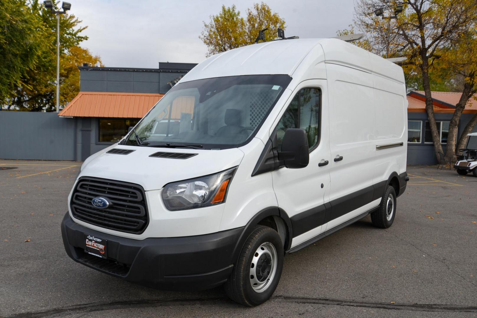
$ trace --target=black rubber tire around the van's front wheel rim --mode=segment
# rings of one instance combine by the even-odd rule
[[[270,243],[274,246],[277,256],[275,275],[271,278],[269,286],[266,287],[266,289],[264,289],[262,292],[257,292],[252,287],[250,277],[252,261],[255,262],[254,257],[256,257],[256,251],[258,251],[260,246]],[[277,231],[268,226],[256,226],[242,247],[239,259],[234,264],[232,273],[224,285],[228,297],[239,304],[249,307],[260,305],[261,303],[264,303],[270,299],[278,286],[278,282],[280,281],[281,270],[283,268],[283,255],[283,243]],[[252,271],[255,272],[255,270],[258,268],[264,267],[257,266]],[[268,275],[271,276],[271,274]],[[268,282],[266,277],[261,278],[264,279],[264,282]]]

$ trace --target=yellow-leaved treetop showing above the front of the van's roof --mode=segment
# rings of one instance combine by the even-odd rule
[[[207,45],[207,56],[232,50],[254,43],[259,31],[268,28],[265,32],[265,41],[276,38],[277,28],[285,30],[285,21],[279,14],[272,12],[270,7],[261,2],[254,3],[247,9],[245,18],[235,5],[225,7],[217,15],[210,16],[210,21],[204,21],[204,29],[199,36]]]

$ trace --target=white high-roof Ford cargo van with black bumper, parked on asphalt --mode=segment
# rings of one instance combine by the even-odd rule
[[[287,253],[368,214],[393,224],[406,107],[401,67],[341,40],[211,56],[85,160],[62,221],[66,252],[147,286],[225,284],[239,303],[263,303]]]

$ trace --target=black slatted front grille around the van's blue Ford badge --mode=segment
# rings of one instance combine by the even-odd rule
[[[91,200],[106,198],[111,205],[98,209]],[[115,231],[140,234],[147,226],[144,189],[132,183],[82,177],[71,198],[73,216],[83,222]]]

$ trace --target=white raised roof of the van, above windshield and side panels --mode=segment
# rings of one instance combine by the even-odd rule
[[[290,39],[243,46],[212,55],[181,82],[254,74],[287,74],[295,78],[302,75],[295,73],[299,66],[303,72],[319,62],[342,64],[404,83],[400,66],[338,39]]]

